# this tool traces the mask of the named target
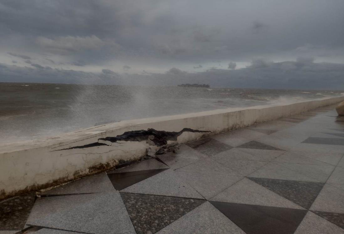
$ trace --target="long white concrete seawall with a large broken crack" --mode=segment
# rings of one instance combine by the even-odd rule
[[[44,140],[0,145],[0,199],[57,185],[145,156],[171,143],[339,103],[344,96],[120,121]]]

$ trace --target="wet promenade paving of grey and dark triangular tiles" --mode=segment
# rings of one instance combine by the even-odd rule
[[[343,154],[322,107],[2,201],[0,234],[344,233]]]

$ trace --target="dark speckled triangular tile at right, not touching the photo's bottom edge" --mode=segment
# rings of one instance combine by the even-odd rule
[[[264,186],[265,188],[277,193],[278,195],[286,198],[299,206],[309,209],[313,204],[316,196],[322,190],[324,183],[294,181],[294,180],[277,180],[266,178],[248,179]]]

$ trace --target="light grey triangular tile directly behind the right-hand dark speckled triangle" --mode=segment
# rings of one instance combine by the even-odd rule
[[[298,173],[273,162],[269,162],[265,166],[253,172],[250,174],[250,177],[320,182],[313,177]]]

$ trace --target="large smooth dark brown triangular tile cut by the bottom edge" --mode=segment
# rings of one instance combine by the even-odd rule
[[[211,203],[247,234],[294,233],[307,210],[226,202]]]

